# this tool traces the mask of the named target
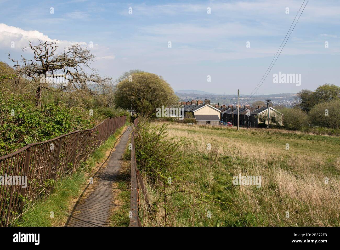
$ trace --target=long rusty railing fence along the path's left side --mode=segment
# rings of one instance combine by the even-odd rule
[[[0,157],[0,226],[8,226],[24,211],[24,205],[47,195],[53,182],[72,173],[80,163],[126,122],[126,116],[107,118],[92,129],[70,132],[29,144]],[[14,185],[27,177],[27,186]],[[10,185],[8,185],[10,184]]]

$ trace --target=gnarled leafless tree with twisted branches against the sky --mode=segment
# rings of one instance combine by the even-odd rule
[[[44,43],[39,39],[38,41],[39,44],[36,46],[29,41],[29,46],[22,49],[23,51],[33,50],[34,56],[33,60],[28,60],[21,55],[21,65],[12,59],[8,52],[8,59],[16,63],[13,67],[17,70],[18,76],[31,78],[37,84],[37,106],[41,107],[42,90],[60,79],[63,81],[61,90],[85,89],[91,94],[94,92],[89,88],[90,85],[99,86],[111,82],[111,78],[100,77],[98,71],[90,67],[95,56],[88,49],[82,48],[79,44],[73,44],[66,47],[64,52],[55,54],[58,41],[50,43],[47,41]]]

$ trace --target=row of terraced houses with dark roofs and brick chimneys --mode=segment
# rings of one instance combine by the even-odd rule
[[[210,104],[209,99],[204,100],[204,102],[202,100],[191,100],[179,102],[178,104],[183,108],[185,117],[193,117],[197,124],[201,125],[217,126],[220,125],[221,121],[225,121],[237,126],[237,114],[239,112],[239,126],[257,128],[260,118],[268,117],[268,110],[270,123],[273,123],[272,117],[275,117],[282,124],[282,113],[275,110],[272,103],[268,103],[267,106],[257,107],[251,107],[250,105],[241,107],[239,105],[239,109],[237,109],[237,105]]]

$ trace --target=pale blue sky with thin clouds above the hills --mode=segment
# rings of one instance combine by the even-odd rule
[[[163,76],[174,90],[234,95],[240,89],[248,95],[302,2],[0,0],[0,61],[11,64],[8,52],[16,59],[32,57],[22,51],[28,40],[58,40],[58,52],[73,43],[90,49],[96,55],[93,66],[113,79],[141,69]],[[339,13],[338,0],[310,0],[256,94],[340,86]],[[300,85],[274,83],[273,74],[279,72],[301,74]]]

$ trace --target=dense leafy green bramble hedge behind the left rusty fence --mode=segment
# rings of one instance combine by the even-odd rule
[[[84,119],[82,110],[54,104],[39,108],[28,95],[5,98],[0,92],[0,106],[0,155],[26,144],[94,127],[93,118]]]

